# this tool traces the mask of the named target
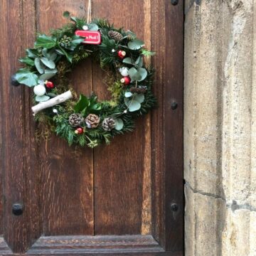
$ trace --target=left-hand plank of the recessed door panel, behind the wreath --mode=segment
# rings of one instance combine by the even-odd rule
[[[36,1],[38,30],[62,26],[63,11],[84,16],[85,1]],[[91,92],[90,63],[81,63],[71,78],[77,92]],[[86,83],[84,82],[86,80]],[[93,235],[92,151],[69,147],[52,137],[40,146],[43,233],[46,235]]]

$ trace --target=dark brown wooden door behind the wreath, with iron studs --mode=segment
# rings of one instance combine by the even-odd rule
[[[157,53],[159,101],[135,132],[95,150],[54,136],[36,143],[29,89],[9,82],[36,31],[62,26],[63,11],[85,16],[87,0],[1,0],[0,10],[0,255],[183,255],[182,1],[92,1],[92,17],[135,31]],[[104,76],[87,60],[75,89],[107,98]]]

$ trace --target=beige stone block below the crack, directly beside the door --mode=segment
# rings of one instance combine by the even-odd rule
[[[221,255],[221,234],[225,201],[202,195],[185,186],[186,256]]]

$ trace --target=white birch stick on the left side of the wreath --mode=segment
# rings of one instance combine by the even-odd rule
[[[67,92],[64,92],[63,94],[58,95],[46,102],[40,102],[38,105],[31,107],[31,110],[33,111],[33,115],[35,115],[41,110],[45,110],[48,107],[53,107],[55,105],[63,103],[66,100],[72,99],[72,97],[72,93],[70,92],[70,90],[68,90]]]

